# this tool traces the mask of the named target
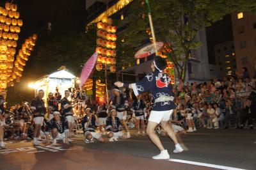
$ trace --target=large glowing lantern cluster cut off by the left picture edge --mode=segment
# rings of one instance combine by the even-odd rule
[[[5,3],[4,7],[0,7],[0,91],[2,92],[6,91],[7,86],[14,86],[14,79],[19,82],[26,65],[26,62],[20,61],[19,58],[14,61],[18,34],[23,25],[22,20],[19,19],[17,4]]]

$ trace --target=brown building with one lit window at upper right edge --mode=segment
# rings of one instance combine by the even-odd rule
[[[250,12],[232,13],[234,47],[237,71],[248,68],[251,77],[256,65],[256,15]]]

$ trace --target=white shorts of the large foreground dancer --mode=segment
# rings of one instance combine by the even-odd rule
[[[161,121],[169,121],[170,116],[173,113],[173,109],[169,111],[151,111],[148,121],[160,123]]]

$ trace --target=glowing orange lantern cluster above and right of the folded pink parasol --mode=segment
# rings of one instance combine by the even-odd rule
[[[116,71],[116,27],[111,26],[112,20],[108,17],[97,23],[97,48],[99,54],[96,69],[104,70],[104,65],[108,66],[110,72]]]

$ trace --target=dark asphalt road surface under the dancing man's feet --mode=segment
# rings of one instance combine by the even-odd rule
[[[6,141],[0,169],[256,169],[256,130],[201,129],[181,138],[189,150],[172,153],[173,143],[161,137],[169,161],[151,158],[159,151],[147,136],[84,144],[83,136],[76,135],[68,145],[49,147]]]

